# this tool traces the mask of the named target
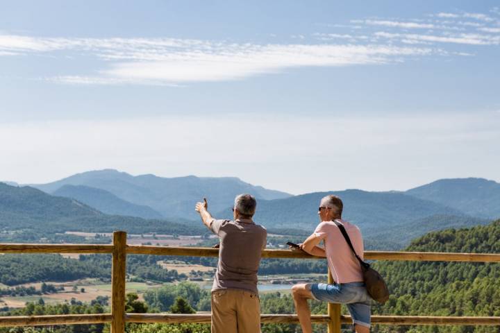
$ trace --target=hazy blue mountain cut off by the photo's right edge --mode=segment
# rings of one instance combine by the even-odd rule
[[[500,184],[484,178],[441,179],[405,192],[485,219],[500,218]]]

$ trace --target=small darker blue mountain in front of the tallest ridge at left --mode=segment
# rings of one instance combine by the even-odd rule
[[[103,189],[96,189],[83,185],[64,185],[53,191],[53,196],[65,196],[74,198],[85,205],[94,207],[105,214],[137,216],[143,219],[162,219],[162,214],[156,212],[151,207],[135,205],[126,200],[122,200],[114,194]]]

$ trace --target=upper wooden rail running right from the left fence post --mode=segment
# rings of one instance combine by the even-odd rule
[[[218,257],[217,248],[186,248],[181,246],[129,245],[126,252],[134,255],[179,255],[188,257]],[[263,258],[322,259],[301,250],[263,250]],[[405,260],[417,262],[500,262],[500,254],[494,253],[433,253],[365,251],[367,260]]]

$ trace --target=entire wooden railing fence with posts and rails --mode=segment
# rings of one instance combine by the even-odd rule
[[[126,232],[113,233],[112,245],[98,244],[0,244],[0,253],[111,253],[112,297],[110,314],[67,314],[55,316],[0,317],[0,326],[36,326],[111,323],[111,332],[123,333],[125,323],[210,323],[210,314],[127,314],[125,313],[126,255],[179,255],[191,257],[217,257],[216,248],[183,248],[163,246],[137,246],[126,244]],[[263,250],[263,258],[322,259],[292,250]],[[500,254],[476,253],[421,253],[366,251],[365,259],[408,260],[437,262],[500,262]],[[328,274],[328,282],[331,275]],[[299,323],[294,314],[262,314],[262,323]],[[350,316],[340,314],[340,305],[328,304],[328,314],[312,315],[313,323],[328,325],[328,333],[339,333],[340,325],[351,323]],[[454,316],[372,316],[373,324],[381,325],[499,325],[496,317]]]

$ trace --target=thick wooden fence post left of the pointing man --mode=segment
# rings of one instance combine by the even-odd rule
[[[113,232],[111,268],[111,333],[125,332],[126,232]]]

